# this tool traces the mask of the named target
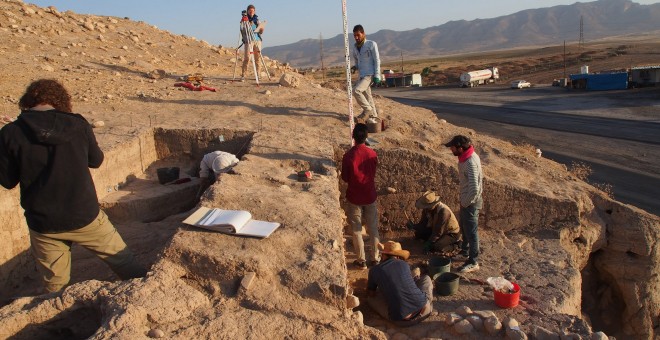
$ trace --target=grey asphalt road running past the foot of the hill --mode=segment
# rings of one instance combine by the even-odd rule
[[[614,198],[660,215],[660,89],[586,92],[550,86],[378,89],[438,118],[512,143],[535,145],[543,157],[589,165],[592,184]],[[387,113],[385,113],[387,114]],[[405,114],[405,113],[392,113]]]

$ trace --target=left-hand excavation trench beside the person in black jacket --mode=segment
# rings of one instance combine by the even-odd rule
[[[180,221],[163,220],[197,204],[199,163],[203,155],[221,150],[240,158],[249,152],[253,134],[228,129],[157,128],[105,152],[101,168],[92,170],[99,202],[139,262],[150,267],[180,226]],[[186,180],[180,184],[160,184],[156,172],[162,167],[179,167],[180,178]],[[4,220],[15,221],[16,229],[25,228],[27,232],[23,220]],[[41,286],[27,249],[29,239],[24,241],[26,250],[14,254],[23,263],[8,261],[2,268],[9,273],[2,277],[6,287],[3,305],[17,296],[33,295]],[[116,279],[105,264],[82,247],[74,245],[72,253],[72,284],[88,279]]]

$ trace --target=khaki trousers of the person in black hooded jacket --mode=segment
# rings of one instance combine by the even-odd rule
[[[146,274],[103,210],[92,223],[77,230],[51,234],[30,230],[30,242],[48,292],[57,292],[69,283],[73,243],[96,254],[122,280]]]

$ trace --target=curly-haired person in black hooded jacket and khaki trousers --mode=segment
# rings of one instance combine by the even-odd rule
[[[0,130],[0,184],[20,184],[21,206],[45,289],[70,280],[71,244],[95,253],[121,278],[146,270],[99,208],[89,168],[103,162],[91,125],[71,113],[71,97],[56,80],[28,86],[21,114]]]

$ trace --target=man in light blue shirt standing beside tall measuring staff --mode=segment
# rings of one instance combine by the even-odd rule
[[[360,72],[353,93],[358,104],[362,107],[362,113],[357,118],[378,117],[374,98],[371,96],[371,82],[373,81],[376,85],[380,84],[378,45],[374,41],[367,40],[362,25],[353,27],[353,38],[355,38],[355,44],[351,55],[355,61],[355,66],[351,67],[351,71],[359,70]]]

